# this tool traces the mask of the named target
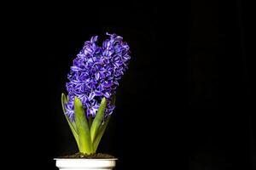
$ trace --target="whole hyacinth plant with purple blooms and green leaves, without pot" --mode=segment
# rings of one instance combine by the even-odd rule
[[[97,45],[97,36],[84,42],[67,75],[67,96],[61,95],[64,115],[79,151],[96,153],[114,109],[119,80],[128,69],[129,46],[116,34]]]

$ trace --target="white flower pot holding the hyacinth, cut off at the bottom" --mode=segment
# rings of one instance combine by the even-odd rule
[[[67,159],[56,158],[56,167],[60,170],[106,170],[113,169],[115,167],[115,161],[117,159]]]

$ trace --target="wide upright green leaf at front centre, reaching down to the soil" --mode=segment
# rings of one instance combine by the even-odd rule
[[[93,153],[93,145],[90,140],[90,127],[79,98],[74,99],[74,113],[77,132],[79,134],[79,150],[85,154]]]

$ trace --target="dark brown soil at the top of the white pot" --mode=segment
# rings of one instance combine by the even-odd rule
[[[59,158],[81,158],[81,159],[111,159],[115,158],[114,156],[108,155],[108,154],[102,154],[102,153],[96,153],[96,154],[84,154],[81,152],[75,153],[70,156],[60,156]]]

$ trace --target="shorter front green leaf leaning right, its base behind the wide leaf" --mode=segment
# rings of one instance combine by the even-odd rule
[[[104,118],[104,113],[105,113],[105,109],[107,106],[107,99],[106,98],[102,98],[102,102],[101,105],[96,113],[96,116],[92,122],[92,125],[90,127],[90,134],[91,134],[91,141],[92,143],[94,143],[97,133],[99,131],[99,127],[102,126],[102,121]]]

